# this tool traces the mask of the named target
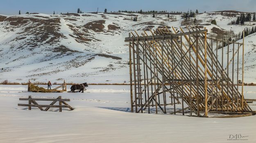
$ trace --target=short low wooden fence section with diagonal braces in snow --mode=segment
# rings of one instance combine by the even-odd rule
[[[47,98],[32,98],[28,96],[28,98],[20,98],[19,100],[26,100],[28,104],[21,104],[18,103],[18,106],[27,106],[28,110],[31,110],[31,107],[38,107],[41,111],[47,111],[50,108],[59,108],[59,112],[62,112],[62,108],[69,108],[70,110],[74,110],[66,101],[70,101],[70,99],[61,99],[61,96],[57,97],[56,99],[47,99]],[[39,105],[36,101],[52,101],[50,105]],[[57,101],[59,101],[59,105],[54,105]],[[62,105],[62,103],[64,105]],[[43,109],[43,107],[45,109]]]

